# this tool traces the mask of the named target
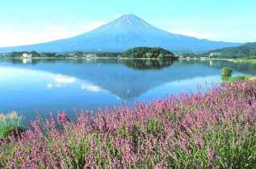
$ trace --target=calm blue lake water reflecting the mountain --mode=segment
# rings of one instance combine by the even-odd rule
[[[228,60],[5,60],[0,59],[0,113],[17,111],[26,121],[50,110],[97,111],[120,102],[149,101],[166,93],[197,92],[197,85],[220,85],[220,69],[255,75],[255,65]]]

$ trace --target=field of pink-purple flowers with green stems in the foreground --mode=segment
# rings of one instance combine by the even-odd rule
[[[98,113],[39,117],[0,139],[1,168],[255,168],[256,80]]]

